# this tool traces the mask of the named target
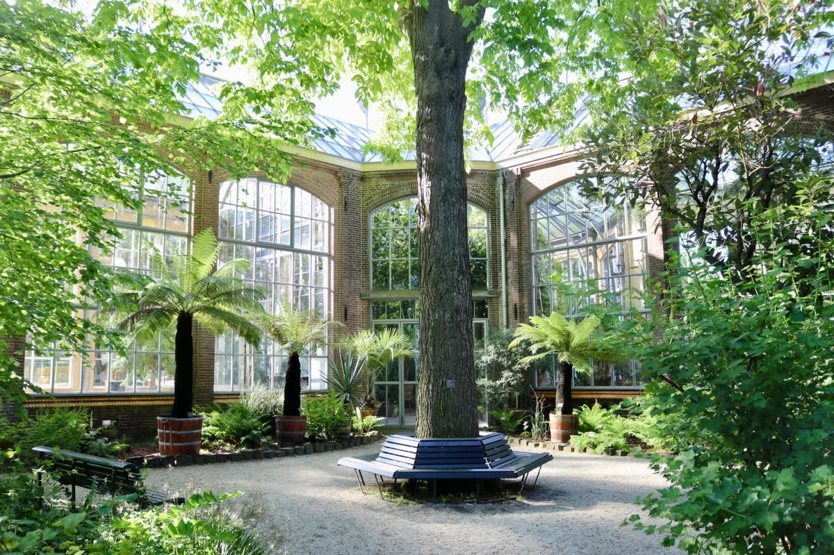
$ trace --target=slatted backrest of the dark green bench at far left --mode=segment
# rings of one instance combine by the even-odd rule
[[[135,464],[43,446],[32,450],[52,462],[49,471],[65,485],[95,488],[99,493],[135,493],[142,486],[141,468]]]

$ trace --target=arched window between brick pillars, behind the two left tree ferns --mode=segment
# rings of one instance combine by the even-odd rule
[[[245,281],[267,293],[264,309],[274,314],[280,303],[296,310],[329,310],[330,208],[304,189],[246,178],[220,185],[219,264],[249,260]],[[217,339],[214,359],[216,391],[240,391],[254,385],[279,387],[288,353],[274,343],[255,351],[226,333]],[[327,353],[323,346],[301,357],[302,384],[324,389]]]

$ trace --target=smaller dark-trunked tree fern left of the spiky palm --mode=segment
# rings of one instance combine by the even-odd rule
[[[311,343],[327,338],[329,322],[312,310],[296,311],[281,303],[276,316],[265,316],[261,325],[269,338],[289,351],[284,380],[284,416],[301,415],[301,361],[299,353]]]

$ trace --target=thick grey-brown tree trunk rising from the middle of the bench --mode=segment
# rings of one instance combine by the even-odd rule
[[[447,0],[413,2],[404,18],[417,94],[418,438],[478,435],[463,123],[467,37],[480,18],[464,28]]]

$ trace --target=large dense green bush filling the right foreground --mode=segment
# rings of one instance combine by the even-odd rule
[[[652,338],[636,355],[674,452],[652,459],[669,487],[642,499],[668,523],[634,520],[686,552],[834,545],[834,188],[803,186],[751,227],[766,248],[743,280],[692,255],[671,276],[671,316],[634,336]]]

